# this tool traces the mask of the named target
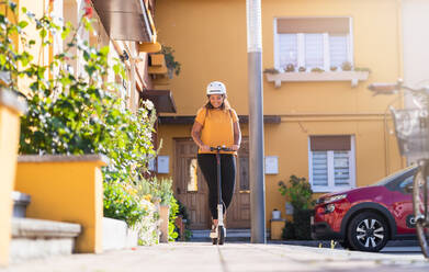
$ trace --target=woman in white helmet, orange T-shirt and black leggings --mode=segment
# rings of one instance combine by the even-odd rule
[[[217,239],[217,172],[216,151],[211,147],[226,147],[221,150],[221,180],[224,215],[234,194],[236,179],[236,156],[240,148],[241,132],[237,113],[230,107],[225,84],[213,81],[207,86],[208,101],[202,106],[192,127],[192,138],[199,146],[197,161],[208,185],[208,207],[213,218],[211,238]],[[223,216],[224,216],[223,215]],[[225,228],[223,228],[225,230]],[[226,231],[226,230],[225,230]],[[225,237],[226,235],[223,234]]]

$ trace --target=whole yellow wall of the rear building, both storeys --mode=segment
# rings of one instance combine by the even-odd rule
[[[279,174],[266,175],[267,219],[273,208],[284,212],[278,182],[287,181],[291,174],[308,178],[309,135],[354,136],[358,186],[405,167],[395,138],[385,132],[384,113],[395,98],[372,97],[366,90],[371,82],[395,81],[402,76],[399,9],[395,0],[262,1],[263,68],[274,66],[275,18],[350,16],[354,66],[372,70],[369,80],[357,88],[345,81],[283,82],[275,89],[273,82],[263,80],[264,114],[281,117],[280,124],[264,126],[266,156],[279,156]],[[225,82],[239,115],[248,114],[246,1],[159,0],[156,25],[159,41],[173,47],[182,65],[180,76],[170,81],[177,115],[195,115],[213,80]],[[172,138],[190,137],[190,129],[160,125],[161,155],[170,156],[170,169]]]

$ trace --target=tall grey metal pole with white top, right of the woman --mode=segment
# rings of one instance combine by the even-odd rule
[[[266,243],[261,0],[246,0],[250,133],[251,242]]]

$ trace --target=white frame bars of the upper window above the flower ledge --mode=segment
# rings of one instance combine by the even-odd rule
[[[278,20],[282,19],[289,19],[285,16],[282,18],[274,18],[273,22],[273,32],[274,32],[274,68],[278,69],[279,71],[284,71],[284,67],[280,67],[280,37],[278,33]],[[347,49],[348,49],[348,56],[347,56],[347,61],[349,61],[351,65],[353,65],[354,59],[353,59],[353,23],[352,23],[352,18],[349,19],[349,34],[347,35]],[[305,67],[307,68],[307,71],[309,71],[308,67],[305,66],[305,38],[304,38],[304,33],[296,33],[297,34],[297,67],[296,70],[300,67]],[[324,70],[329,71],[330,69],[330,53],[329,53],[329,34],[328,33],[319,33],[324,34]],[[341,67],[338,67],[341,69]]]

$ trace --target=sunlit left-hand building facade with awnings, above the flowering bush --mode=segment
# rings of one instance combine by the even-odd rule
[[[50,13],[59,25],[71,23],[78,26],[81,16],[87,8],[91,8],[91,20],[93,31],[83,27],[78,33],[81,41],[87,41],[91,46],[110,48],[109,58],[113,66],[113,59],[117,58],[125,65],[126,78],[121,78],[113,69],[109,72],[108,80],[121,86],[121,97],[126,99],[127,107],[136,111],[142,99],[153,100],[158,112],[174,112],[174,102],[169,90],[154,92],[153,76],[149,71],[150,54],[161,50],[157,42],[157,30],[154,24],[155,0],[145,1],[86,1],[86,0],[38,0],[16,1],[19,7],[25,7],[29,11],[42,16]],[[21,13],[22,19],[25,14]],[[32,27],[32,26],[29,26]],[[37,32],[30,29],[27,34],[38,39]],[[35,56],[41,56],[41,61],[49,64],[54,54],[65,49],[69,41],[63,41],[60,35],[53,37],[53,45],[46,47],[42,54],[36,45],[32,48]],[[74,54],[80,56],[75,49]],[[79,75],[83,69],[79,58],[69,61],[69,69]],[[167,73],[167,71],[165,72]],[[22,82],[22,90],[25,92],[25,81]]]

